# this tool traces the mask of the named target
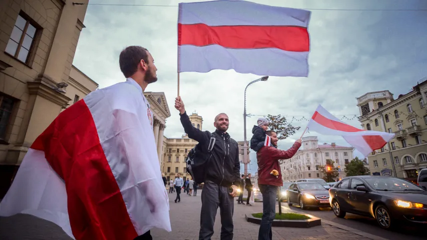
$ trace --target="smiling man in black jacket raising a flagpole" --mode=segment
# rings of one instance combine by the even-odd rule
[[[228,116],[225,113],[218,114],[214,122],[216,130],[210,133],[191,124],[181,97],[175,99],[175,108],[180,112],[185,133],[198,141],[202,150],[207,151],[211,137],[215,137],[202,190],[199,240],[211,239],[218,206],[221,211],[221,240],[233,239],[233,197],[237,195],[240,185],[240,162],[237,141],[227,133]],[[232,192],[228,191],[230,188]]]

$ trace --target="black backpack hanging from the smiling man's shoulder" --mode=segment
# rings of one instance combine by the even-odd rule
[[[208,145],[208,151],[203,151],[203,145],[197,143],[188,153],[185,162],[187,162],[187,173],[191,175],[194,182],[200,184],[206,179],[206,167],[211,158],[211,151],[215,145],[214,132],[211,134],[211,139]]]

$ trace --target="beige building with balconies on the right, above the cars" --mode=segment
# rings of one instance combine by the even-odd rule
[[[427,167],[427,77],[397,99],[388,90],[357,97],[363,129],[395,134],[383,148],[367,158],[373,175],[392,175],[416,180]]]

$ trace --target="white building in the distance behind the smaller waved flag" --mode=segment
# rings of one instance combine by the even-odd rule
[[[317,136],[302,138],[302,147],[290,159],[280,164],[283,181],[295,181],[303,178],[322,178],[319,166],[326,165],[326,159],[339,167],[339,178],[345,176],[345,164],[353,159],[354,147],[331,144],[318,144]]]

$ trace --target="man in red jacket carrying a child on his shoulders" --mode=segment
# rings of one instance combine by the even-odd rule
[[[271,146],[262,146],[256,153],[258,162],[258,186],[262,193],[262,220],[259,226],[258,240],[272,239],[271,224],[276,215],[277,187],[283,185],[280,159],[288,159],[295,155],[301,146],[301,139],[293,143],[288,150],[277,149],[277,134],[266,131],[271,137]]]

